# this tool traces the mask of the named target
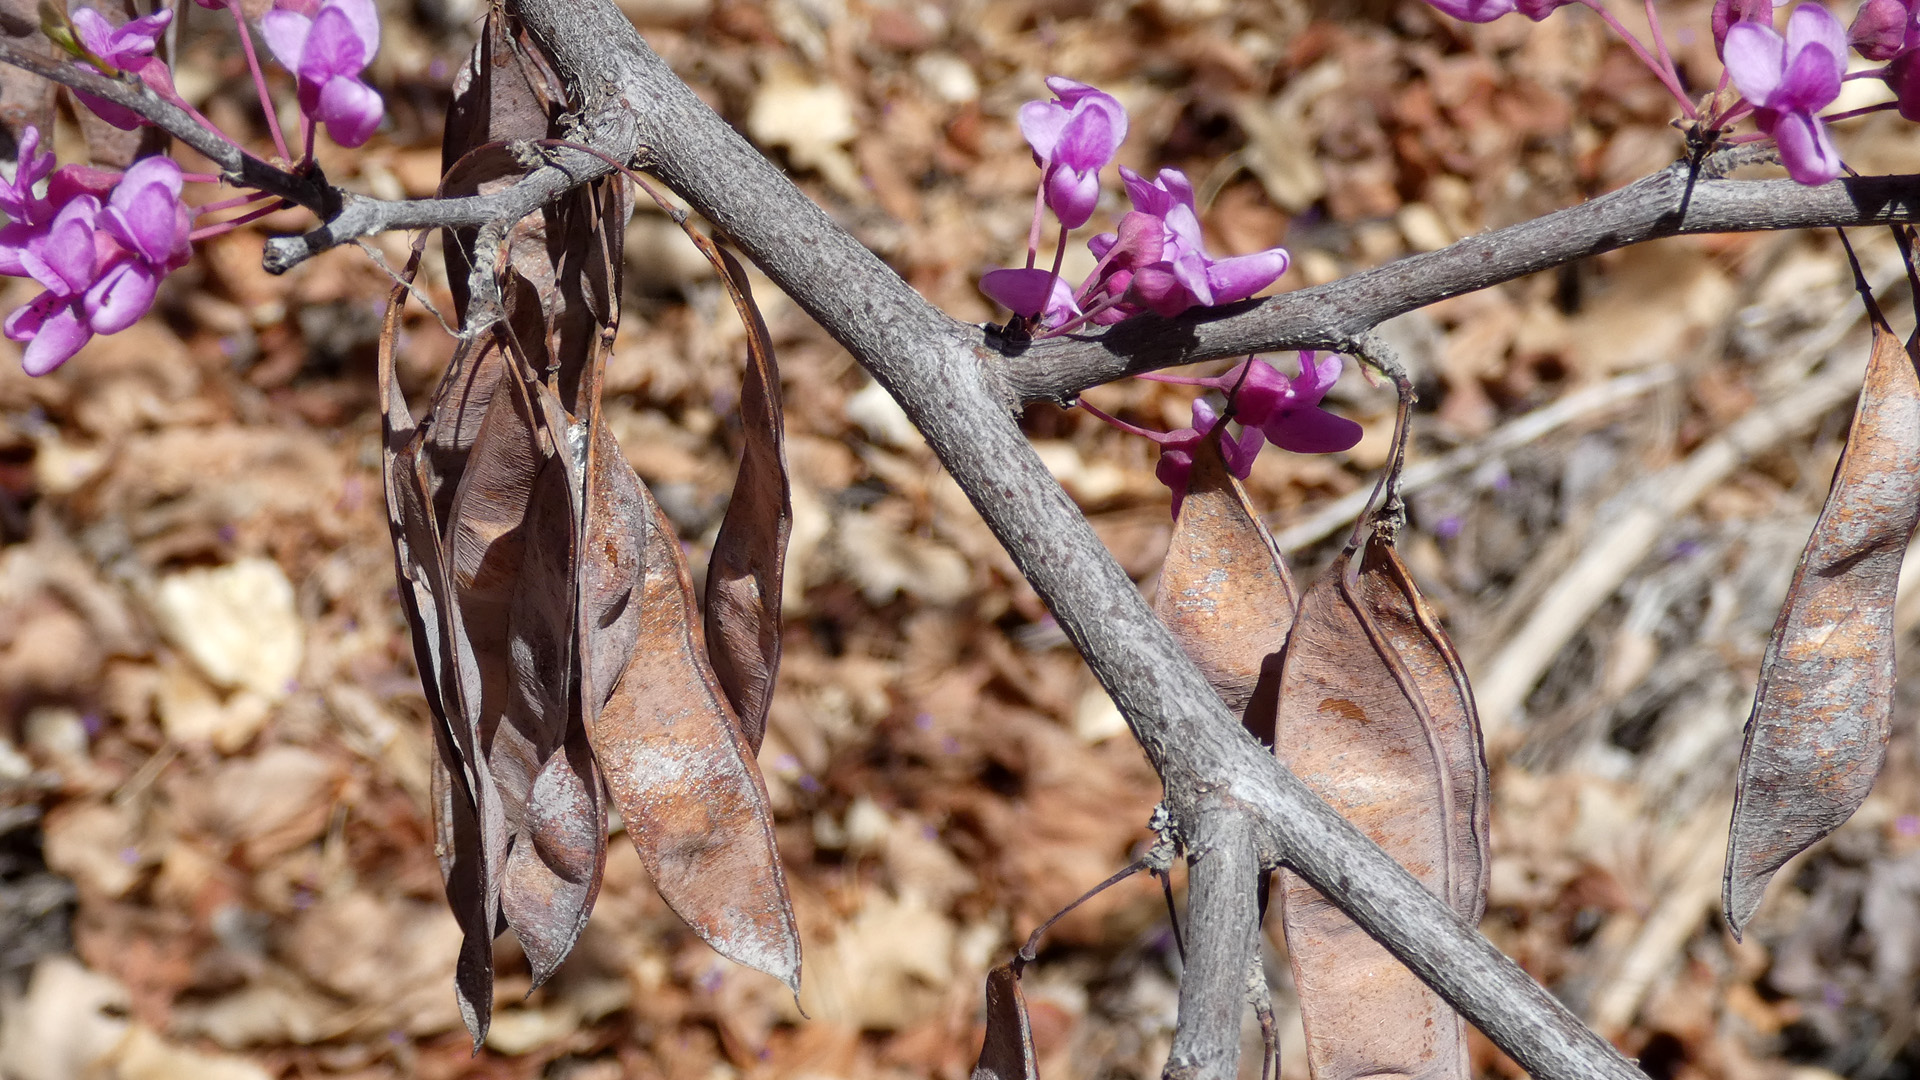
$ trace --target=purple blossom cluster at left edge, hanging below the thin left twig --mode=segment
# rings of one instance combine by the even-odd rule
[[[0,236],[0,271],[33,277],[46,288],[4,325],[8,338],[27,342],[21,356],[27,375],[60,367],[94,334],[134,325],[154,306],[159,281],[188,258],[192,217],[180,202],[180,167],[171,158],[134,163],[106,206],[81,190],[88,179],[67,184],[44,231],[17,244]]]

